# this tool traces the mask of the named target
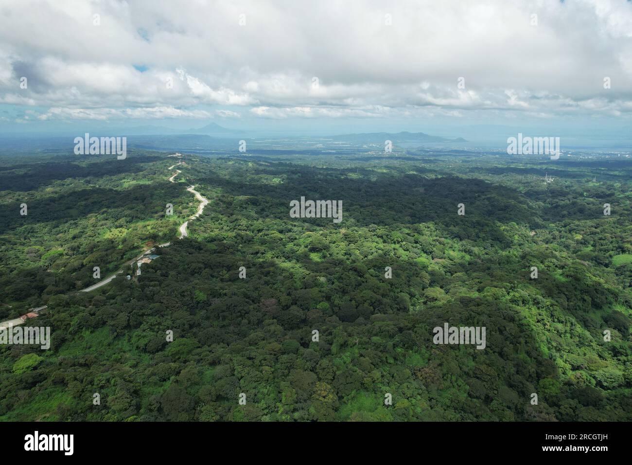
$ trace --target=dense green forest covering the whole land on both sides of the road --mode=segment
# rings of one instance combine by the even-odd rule
[[[46,304],[52,335],[0,345],[0,419],[632,419],[629,158],[185,154],[170,183],[167,155],[0,159],[0,319]]]

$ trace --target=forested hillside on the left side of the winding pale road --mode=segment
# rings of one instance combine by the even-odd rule
[[[184,180],[167,179],[174,163],[146,155],[116,163],[56,157],[4,166],[3,298],[37,306],[52,295],[94,284],[94,266],[106,275],[145,245],[173,239],[177,225],[195,212]],[[173,215],[165,214],[167,203],[173,204]],[[21,204],[27,205],[26,215],[20,215]],[[0,319],[23,309],[0,307]]]

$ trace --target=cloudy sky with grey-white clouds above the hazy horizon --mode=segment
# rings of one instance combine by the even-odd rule
[[[609,137],[631,115],[630,1],[0,2],[0,133]]]

